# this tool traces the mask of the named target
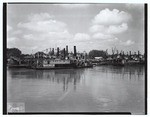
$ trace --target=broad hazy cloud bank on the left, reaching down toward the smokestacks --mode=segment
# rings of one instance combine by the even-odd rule
[[[24,32],[17,42],[24,43],[20,48],[25,46],[31,48],[36,45],[40,50],[44,50],[56,46],[61,48],[64,45],[78,45],[90,40],[90,35],[86,33],[71,34],[66,23],[55,20],[54,16],[47,13],[30,14],[26,22],[18,23],[18,28]]]

